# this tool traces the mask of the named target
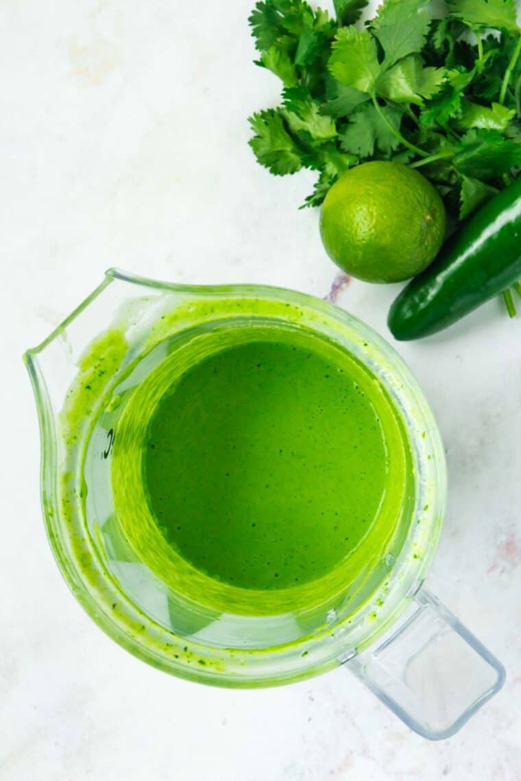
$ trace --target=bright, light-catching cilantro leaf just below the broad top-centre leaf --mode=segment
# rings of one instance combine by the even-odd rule
[[[394,103],[423,105],[444,82],[444,68],[424,68],[421,57],[411,55],[387,70],[376,84],[376,93]]]

